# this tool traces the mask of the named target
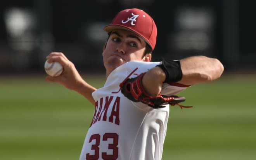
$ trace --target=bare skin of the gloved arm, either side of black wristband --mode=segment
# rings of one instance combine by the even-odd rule
[[[205,56],[184,58],[180,60],[180,67],[182,70],[182,79],[167,83],[176,82],[193,85],[209,82],[218,79],[224,70],[223,65],[218,59]],[[154,67],[144,75],[142,85],[150,96],[156,96],[161,92],[164,81],[166,81],[165,72],[160,67]]]

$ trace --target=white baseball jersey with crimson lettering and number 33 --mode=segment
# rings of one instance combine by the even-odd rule
[[[159,63],[127,62],[112,71],[104,86],[92,93],[95,111],[80,160],[161,160],[169,105],[154,109],[128,100],[121,91],[116,93],[135,68],[135,74],[141,74]],[[175,95],[187,87],[164,83],[161,93]]]

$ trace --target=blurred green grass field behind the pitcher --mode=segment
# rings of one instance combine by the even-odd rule
[[[224,74],[180,95],[194,108],[171,107],[163,160],[256,159],[256,75]],[[93,109],[45,75],[0,76],[0,160],[77,160]]]

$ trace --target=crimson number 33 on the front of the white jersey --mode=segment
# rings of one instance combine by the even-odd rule
[[[100,134],[93,134],[90,137],[89,143],[95,139],[95,144],[92,145],[92,150],[94,150],[94,155],[90,155],[89,153],[86,154],[86,160],[98,160],[100,157]],[[113,143],[109,144],[109,150],[113,150],[112,155],[107,155],[106,152],[101,153],[101,157],[104,160],[116,160],[118,158],[118,134],[116,133],[105,133],[102,137],[102,141],[107,141],[107,139],[113,139]]]

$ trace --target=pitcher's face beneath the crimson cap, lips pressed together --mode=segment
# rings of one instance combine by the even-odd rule
[[[137,34],[126,30],[112,31],[103,50],[103,62],[107,72],[131,60],[150,61],[151,54],[143,57],[146,42]]]

